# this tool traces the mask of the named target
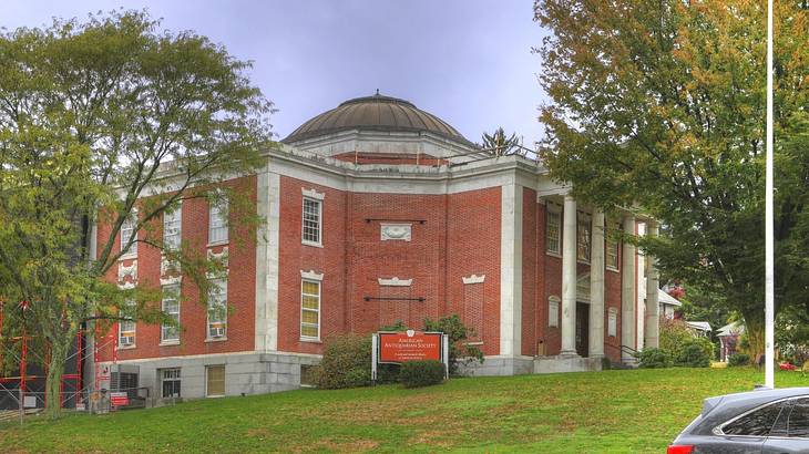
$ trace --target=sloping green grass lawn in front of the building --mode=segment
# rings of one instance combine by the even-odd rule
[[[779,386],[809,385],[777,372]],[[752,369],[453,379],[201,400],[0,426],[0,452],[664,452],[704,398],[752,389]]]

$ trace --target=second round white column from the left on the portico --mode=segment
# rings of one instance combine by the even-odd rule
[[[590,357],[604,357],[604,211],[593,213],[590,252]]]

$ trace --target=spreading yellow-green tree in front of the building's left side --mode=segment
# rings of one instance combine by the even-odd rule
[[[104,281],[122,250],[135,243],[162,249],[204,303],[206,271],[222,264],[164,245],[163,214],[207,197],[227,202],[231,219],[255,233],[248,196],[218,185],[253,172],[269,144],[272,103],[244,74],[249,68],[205,37],[162,31],[139,11],[0,34],[0,287],[7,316],[22,323],[13,309],[27,301],[24,323],[44,340],[52,417],[83,326],[121,311],[167,320],[150,303],[160,288]],[[119,248],[125,219],[133,228]],[[109,226],[98,245],[96,224]]]

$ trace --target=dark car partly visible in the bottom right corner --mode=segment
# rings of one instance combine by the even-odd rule
[[[809,388],[706,399],[667,453],[809,453]]]

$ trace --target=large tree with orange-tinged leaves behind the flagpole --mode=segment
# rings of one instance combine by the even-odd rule
[[[806,307],[809,17],[776,2],[776,310]],[[668,275],[724,298],[764,351],[766,8],[540,0],[545,165],[585,202],[642,206]],[[801,135],[800,138],[798,137]]]

